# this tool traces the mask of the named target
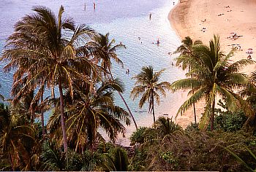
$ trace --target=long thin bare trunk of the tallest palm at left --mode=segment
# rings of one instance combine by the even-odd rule
[[[67,134],[66,134],[66,125],[65,125],[65,118],[64,118],[64,98],[63,98],[63,91],[61,86],[61,79],[59,79],[59,101],[60,101],[60,109],[61,109],[61,129],[63,135],[63,146],[64,151],[67,152]]]

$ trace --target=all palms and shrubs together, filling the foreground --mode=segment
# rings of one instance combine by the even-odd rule
[[[12,100],[0,104],[1,171],[255,171],[256,74],[239,73],[255,61],[230,63],[235,50],[221,52],[218,36],[209,46],[186,37],[176,51],[176,65],[189,69],[186,79],[159,82],[164,70],[152,66],[135,76],[131,96],[140,98],[140,107],[148,103],[154,118],[152,128],[138,128],[111,71],[113,62],[123,66],[116,50],[125,46],[75,26],[62,16],[64,7],[58,16],[46,7],[33,10],[15,24],[1,56],[4,70],[14,71]],[[189,90],[177,115],[191,106],[196,114],[195,103],[205,98],[200,122],[195,118],[184,130],[173,119],[156,120],[154,106],[165,90]],[[114,93],[127,110],[116,105]],[[51,113],[47,124],[45,112]],[[138,128],[132,146],[115,145],[131,118]]]

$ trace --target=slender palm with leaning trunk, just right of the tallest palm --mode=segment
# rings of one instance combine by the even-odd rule
[[[107,71],[106,74],[107,77],[109,76],[112,80],[113,80],[113,75],[111,72],[111,66],[112,66],[112,62],[111,60],[115,60],[116,63],[120,64],[122,68],[124,68],[124,64],[123,62],[117,57],[116,55],[116,50],[118,48],[124,47],[124,44],[116,44],[115,43],[115,39],[109,39],[109,33],[108,34],[97,34],[93,37],[93,41],[91,42],[91,46],[93,49],[93,55],[95,57],[95,60],[100,63],[100,65],[102,66],[103,69],[105,69]],[[138,129],[138,125],[135,121],[135,118],[133,117],[133,114],[131,112],[131,110],[129,109],[129,106],[127,104],[127,102],[125,101],[123,95],[121,95],[121,92],[118,91],[118,94],[120,95],[122,101],[124,102],[125,106],[127,107],[127,110],[129,112],[129,114],[132,117],[132,120],[135,124],[135,128]]]

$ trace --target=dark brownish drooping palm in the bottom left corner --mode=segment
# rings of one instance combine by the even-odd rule
[[[22,102],[10,109],[2,109],[0,114],[0,152],[2,158],[9,160],[12,171],[34,171],[37,165],[32,158],[39,152],[36,128],[31,128],[30,118],[18,111],[25,104]],[[25,111],[21,109],[20,112]]]

